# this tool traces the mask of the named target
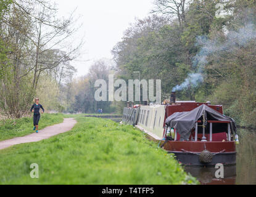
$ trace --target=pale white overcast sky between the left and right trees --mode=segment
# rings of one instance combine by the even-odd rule
[[[73,62],[82,76],[89,66],[101,58],[112,58],[111,50],[122,40],[123,32],[135,22],[135,18],[145,18],[154,7],[152,0],[53,0],[60,15],[72,12],[81,15],[78,35],[85,34],[83,53],[79,61]],[[89,60],[89,61],[86,61]]]

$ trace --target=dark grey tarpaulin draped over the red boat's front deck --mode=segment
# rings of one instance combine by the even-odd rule
[[[213,110],[207,105],[200,105],[192,111],[183,111],[176,112],[173,115],[169,116],[165,120],[167,127],[176,129],[178,134],[181,135],[181,139],[187,140],[191,135],[192,129],[196,127],[196,122],[201,120],[202,124],[206,126],[205,133],[209,133],[209,121],[230,121],[230,129],[233,134],[236,134],[236,123],[234,119],[229,118],[228,116],[218,113],[218,111]],[[205,122],[203,121],[205,120]],[[202,132],[202,127],[198,127],[199,133]],[[228,132],[228,124],[223,123],[213,123],[213,133],[218,132]]]

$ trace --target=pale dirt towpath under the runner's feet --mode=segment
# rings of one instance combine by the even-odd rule
[[[45,127],[42,130],[38,131],[38,134],[34,132],[33,134],[25,135],[23,137],[15,137],[10,140],[4,140],[0,142],[0,150],[11,147],[19,143],[28,143],[28,142],[38,142],[43,139],[48,139],[57,134],[62,134],[64,132],[70,131],[73,126],[75,126],[76,120],[73,118],[64,118],[64,122],[60,124],[54,124],[49,127]],[[33,129],[33,127],[31,127]]]

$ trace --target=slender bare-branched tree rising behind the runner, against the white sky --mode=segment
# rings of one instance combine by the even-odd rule
[[[33,87],[36,89],[42,71],[53,70],[57,66],[67,68],[68,62],[78,57],[78,50],[83,41],[77,46],[72,46],[67,42],[67,39],[72,37],[79,28],[75,26],[72,14],[68,18],[60,19],[57,17],[56,6],[52,6],[49,1],[36,0],[33,4],[28,0],[20,2],[23,4],[14,1],[24,15],[31,17],[31,23],[34,26],[33,34],[28,38],[35,50],[35,56],[33,56],[35,63],[28,68],[27,73],[33,70]],[[38,9],[33,9],[33,7]]]

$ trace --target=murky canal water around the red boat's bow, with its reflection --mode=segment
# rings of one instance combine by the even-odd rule
[[[239,145],[236,145],[236,166],[224,168],[224,178],[217,179],[214,167],[184,167],[186,172],[197,177],[201,184],[244,185],[256,184],[256,132],[239,129]]]

